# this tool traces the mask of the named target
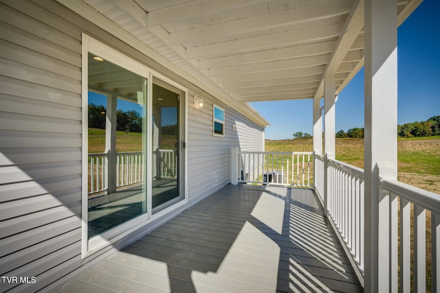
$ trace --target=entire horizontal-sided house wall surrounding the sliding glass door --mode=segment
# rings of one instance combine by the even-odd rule
[[[199,89],[53,0],[1,0],[0,16],[0,275],[30,277],[0,292],[53,289],[148,231],[81,259],[81,33]],[[188,97],[188,204],[230,182],[231,147],[263,150],[262,127],[203,99]],[[212,136],[214,103],[225,137]]]

